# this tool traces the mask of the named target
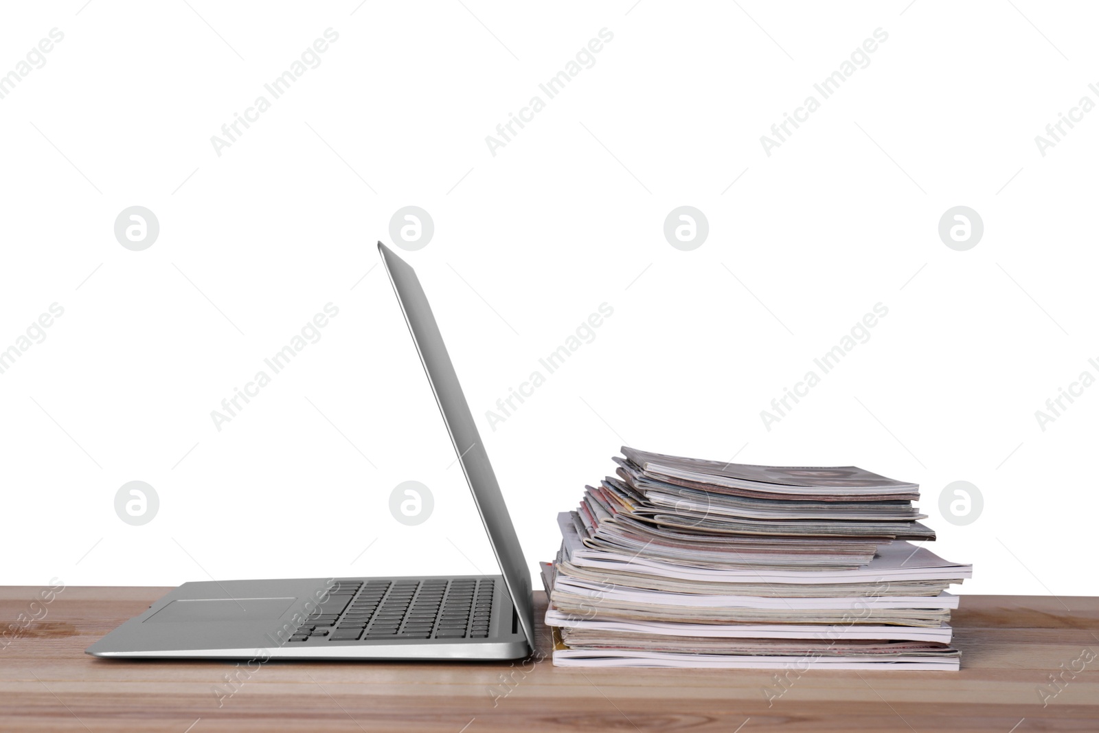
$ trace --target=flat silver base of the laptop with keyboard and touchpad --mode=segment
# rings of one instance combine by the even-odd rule
[[[87,652],[112,658],[519,659],[502,576],[187,582]]]

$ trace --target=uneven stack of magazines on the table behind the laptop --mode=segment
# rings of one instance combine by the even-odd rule
[[[621,451],[542,564],[555,665],[958,668],[973,566],[909,542],[935,538],[917,485]]]

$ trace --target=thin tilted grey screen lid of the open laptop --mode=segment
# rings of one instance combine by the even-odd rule
[[[508,591],[511,593],[511,601],[519,613],[523,633],[526,634],[526,641],[533,649],[534,607],[531,599],[531,573],[526,567],[523,549],[519,545],[515,527],[511,523],[511,515],[503,502],[503,495],[496,481],[496,474],[489,463],[485,444],[481,443],[480,434],[477,432],[474,415],[469,412],[465,395],[462,393],[458,375],[451,364],[443,335],[439,332],[435,316],[428,303],[428,296],[420,286],[415,270],[381,242],[378,242],[378,251],[381,253],[386,271],[389,273],[389,280],[393,284],[393,290],[397,291],[397,300],[400,301],[404,320],[409,324],[409,331],[412,332],[412,341],[415,342],[420,362],[428,373],[428,381],[431,382],[435,401],[439,402],[439,409],[443,413],[443,421],[458,454],[466,481],[473,491],[477,511],[485,522],[485,530],[488,532],[503,580],[508,585]]]

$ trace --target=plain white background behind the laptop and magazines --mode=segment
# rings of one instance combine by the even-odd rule
[[[7,5],[0,73],[4,584],[490,573],[491,551],[378,264],[401,207],[418,270],[532,570],[623,442],[759,464],[854,464],[922,486],[963,592],[1099,592],[1099,82],[1085,3],[482,0]],[[210,142],[325,29],[338,41],[232,146]],[[556,98],[539,84],[613,33]],[[761,135],[875,29],[870,64],[767,156]],[[493,156],[486,135],[545,109]],[[269,95],[268,99],[270,99]],[[733,182],[735,181],[735,182]],[[732,185],[731,185],[732,184]],[[704,212],[673,248],[665,216]],[[115,216],[155,212],[120,246]],[[939,238],[979,212],[967,252]],[[218,431],[211,411],[325,303],[336,318]],[[518,411],[485,412],[601,303],[613,315]],[[876,303],[888,315],[768,431],[761,411]],[[1094,392],[1094,393],[1092,393]],[[403,526],[392,488],[434,513]],[[155,487],[142,526],[124,482]],[[955,526],[954,480],[985,507]],[[365,552],[364,552],[365,549]]]

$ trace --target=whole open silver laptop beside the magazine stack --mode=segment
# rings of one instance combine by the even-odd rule
[[[412,267],[378,251],[502,574],[186,582],[88,654],[518,659],[534,649],[530,570],[435,316]]]

